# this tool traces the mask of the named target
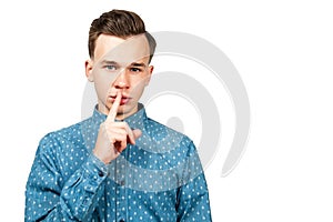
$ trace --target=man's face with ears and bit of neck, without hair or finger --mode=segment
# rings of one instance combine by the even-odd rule
[[[153,70],[149,65],[150,50],[144,34],[127,40],[101,34],[95,41],[94,58],[85,62],[85,74],[94,82],[99,111],[108,114],[118,92],[121,103],[117,119],[138,110],[138,101]]]

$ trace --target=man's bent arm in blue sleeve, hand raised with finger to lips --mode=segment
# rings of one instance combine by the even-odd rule
[[[108,175],[107,164],[120,155],[128,141],[134,144],[141,134],[125,122],[114,121],[120,101],[121,93],[118,93],[100,125],[93,154],[85,160],[73,160],[69,147],[78,148],[71,141],[63,144],[64,140],[51,135],[41,141],[27,183],[26,222],[91,221],[103,194],[101,184]],[[87,157],[85,148],[82,150],[79,157]]]

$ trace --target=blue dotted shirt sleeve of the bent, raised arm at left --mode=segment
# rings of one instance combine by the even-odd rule
[[[108,168],[90,154],[64,176],[54,144],[50,137],[39,144],[26,186],[24,221],[87,221],[103,193]]]

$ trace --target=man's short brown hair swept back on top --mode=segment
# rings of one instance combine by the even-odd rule
[[[104,12],[100,18],[94,19],[89,30],[88,49],[90,58],[94,57],[95,40],[100,34],[111,34],[122,39],[144,33],[149,42],[151,61],[155,51],[154,38],[145,31],[144,22],[134,12],[125,10],[112,10]]]

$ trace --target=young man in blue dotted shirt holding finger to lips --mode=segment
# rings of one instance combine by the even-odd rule
[[[193,142],[145,114],[155,40],[141,18],[112,10],[89,32],[91,118],[47,134],[27,182],[26,221],[211,221]]]

